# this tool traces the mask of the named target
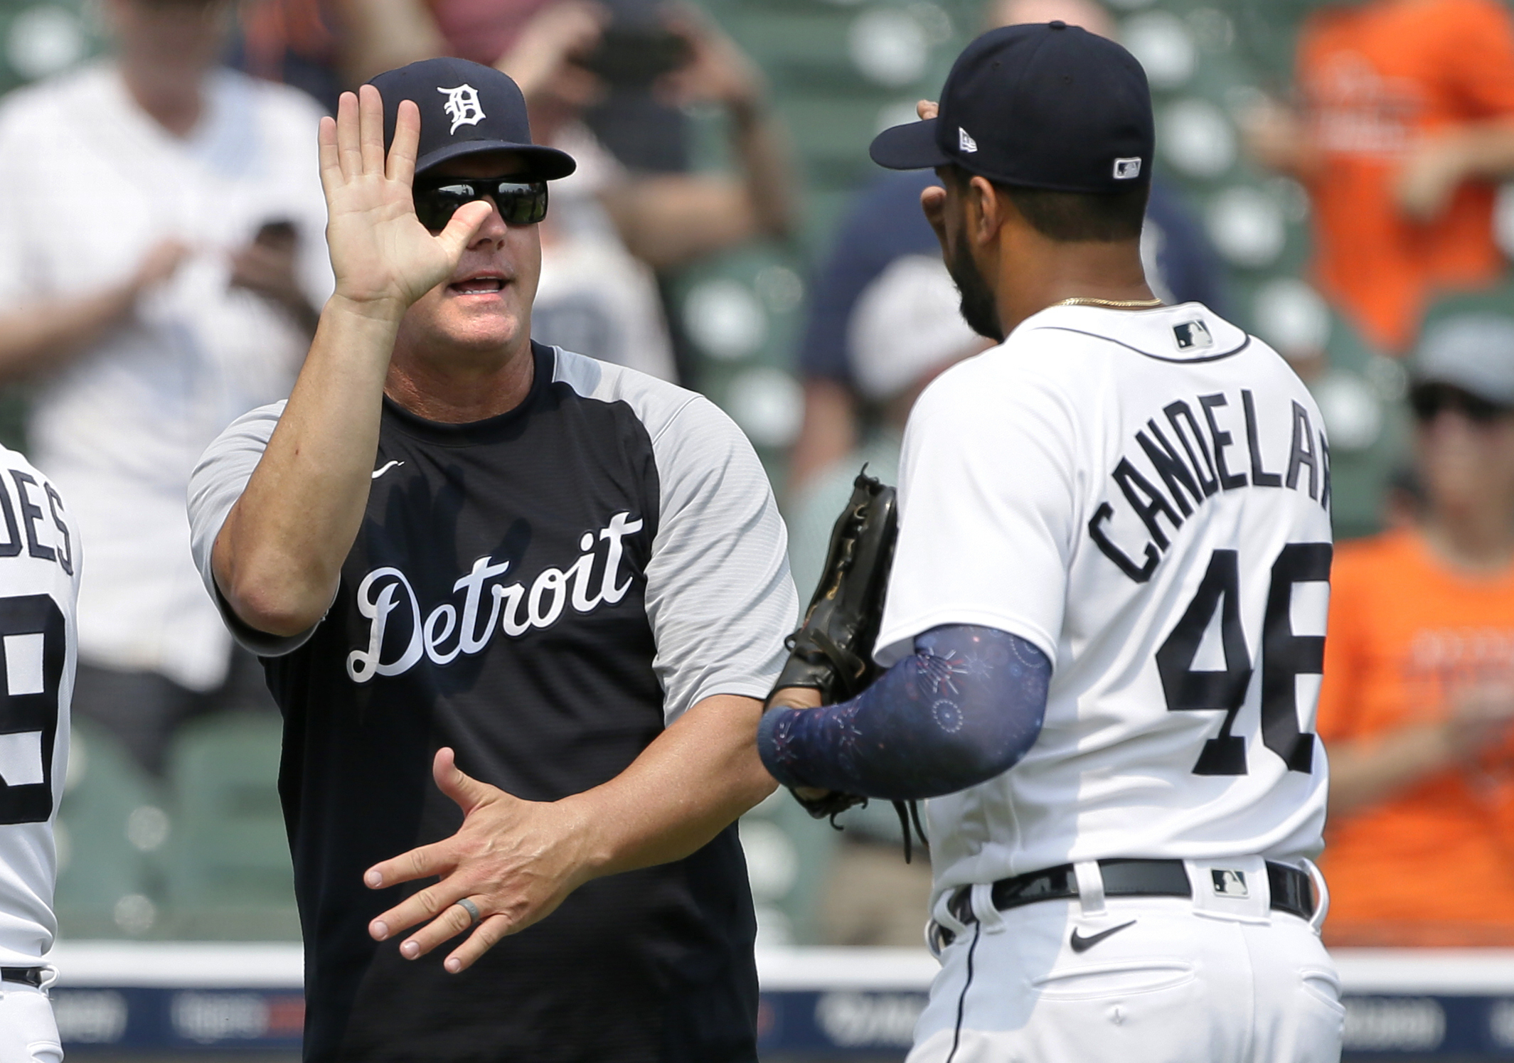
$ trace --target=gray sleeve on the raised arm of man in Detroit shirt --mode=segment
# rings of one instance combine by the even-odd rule
[[[220,607],[221,619],[226,621],[232,636],[260,657],[280,657],[298,650],[315,631],[315,627],[288,637],[248,627],[241,616],[232,612],[221,588],[217,586],[215,572],[210,569],[210,553],[232,506],[242,497],[247,482],[253,479],[253,469],[257,468],[263,450],[268,448],[268,439],[274,433],[274,426],[279,424],[283,407],[283,403],[260,406],[232,421],[227,430],[217,436],[215,442],[200,456],[200,463],[195,465],[194,474],[189,477],[189,550],[194,553],[200,578],[204,580],[204,589]]]

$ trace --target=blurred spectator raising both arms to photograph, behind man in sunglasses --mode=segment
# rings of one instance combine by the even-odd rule
[[[787,145],[768,115],[757,67],[698,12],[678,8],[662,18],[665,42],[681,42],[681,58],[659,76],[657,89],[671,104],[725,111],[739,174],[631,171],[597,141],[583,118],[604,98],[607,82],[584,59],[618,39],[598,5],[545,8],[498,67],[525,92],[536,139],[578,159],[578,171],[554,188],[542,224],[536,338],[671,377],[654,271],[757,236],[786,236],[795,195]]]

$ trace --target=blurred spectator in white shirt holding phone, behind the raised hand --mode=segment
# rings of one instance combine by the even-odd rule
[[[74,710],[156,772],[230,660],[189,471],[286,392],[330,291],[319,112],[217,68],[223,0],[104,14],[114,59],[0,103],[0,380],[36,382],[32,453],[89,544]]]

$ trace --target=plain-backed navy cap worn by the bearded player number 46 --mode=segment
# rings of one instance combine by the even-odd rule
[[[1005,185],[1122,192],[1151,180],[1146,71],[1114,41],[1066,23],[989,30],[957,56],[936,118],[886,129],[889,170],[948,164]]]

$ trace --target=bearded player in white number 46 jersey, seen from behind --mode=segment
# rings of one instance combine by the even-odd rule
[[[992,30],[921,117],[872,157],[937,170],[922,206],[1001,342],[910,415],[887,671],[825,707],[781,680],[763,760],[816,807],[930,798],[942,971],[910,1063],[1334,1060],[1319,410],[1264,344],[1146,286],[1151,97],[1123,48]],[[824,634],[795,660],[843,662]]]

